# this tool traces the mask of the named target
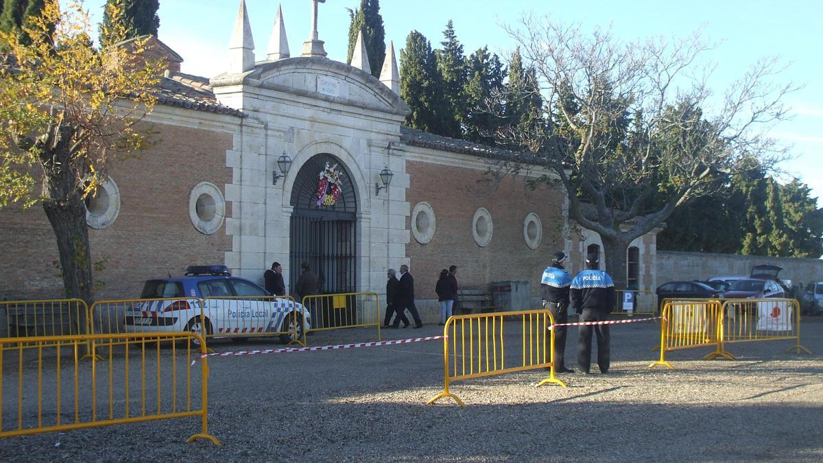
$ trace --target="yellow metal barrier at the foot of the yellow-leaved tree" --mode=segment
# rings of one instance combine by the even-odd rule
[[[86,334],[88,308],[81,299],[0,302],[0,337]],[[4,348],[14,348],[5,344]]]

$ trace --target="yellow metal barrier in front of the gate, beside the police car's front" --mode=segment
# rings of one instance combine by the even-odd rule
[[[380,324],[383,322],[383,308],[376,292],[342,292],[339,294],[318,294],[303,297],[303,306],[311,313],[312,326],[303,331],[305,345],[306,331],[340,330],[374,326],[377,340],[380,340]]]

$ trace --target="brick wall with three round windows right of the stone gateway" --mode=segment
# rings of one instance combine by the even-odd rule
[[[496,188],[483,185],[486,176],[479,169],[407,161],[411,208],[421,201],[435,212],[435,235],[427,244],[412,236],[407,246],[410,271],[415,277],[419,299],[435,298],[435,283],[441,269],[458,266],[461,288],[488,289],[493,281],[514,280],[532,283],[532,295],[539,293],[543,269],[551,254],[563,249],[562,199],[545,187],[532,191],[523,177],[507,176]],[[481,180],[481,183],[478,183]],[[491,242],[478,246],[472,237],[472,217],[477,208],[491,213],[494,227]],[[542,241],[532,250],[523,239],[523,219],[536,213],[542,222]],[[410,227],[411,217],[407,219]]]

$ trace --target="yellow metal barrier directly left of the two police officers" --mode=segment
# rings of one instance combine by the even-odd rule
[[[443,392],[428,404],[451,397],[463,406],[463,400],[449,392],[453,381],[537,368],[550,369],[549,377],[537,386],[566,387],[555,377],[555,331],[548,329],[553,324],[554,317],[547,310],[450,317],[443,329]]]

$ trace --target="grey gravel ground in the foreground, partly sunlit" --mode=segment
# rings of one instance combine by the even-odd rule
[[[426,325],[384,339],[441,333]],[[803,321],[811,356],[785,353],[788,341],[730,344],[736,360],[700,360],[709,348],[670,353],[675,371],[647,368],[658,325],[611,333],[609,375],[561,375],[567,389],[535,387],[542,371],[458,381],[465,408],[425,405],[443,387],[442,341],[212,358],[209,424],[223,447],[185,443],[199,420],[171,419],[10,437],[0,461],[823,460],[823,320]],[[370,336],[341,330],[309,343]],[[571,329],[572,360],[576,341]]]

